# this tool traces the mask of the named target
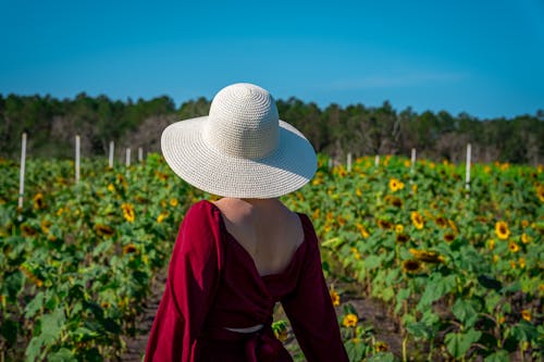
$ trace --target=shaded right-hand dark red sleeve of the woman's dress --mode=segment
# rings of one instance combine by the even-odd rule
[[[348,361],[323,277],[317,237],[308,241],[297,288],[282,300],[283,308],[309,362]]]

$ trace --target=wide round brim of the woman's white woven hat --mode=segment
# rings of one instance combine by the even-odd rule
[[[166,163],[196,188],[222,197],[264,199],[293,192],[313,177],[313,147],[288,123],[279,121],[279,143],[270,154],[250,160],[210,147],[202,137],[208,118],[173,123],[161,137]]]

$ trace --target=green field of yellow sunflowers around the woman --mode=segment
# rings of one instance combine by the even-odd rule
[[[213,198],[157,154],[129,167],[0,160],[0,360],[119,359],[187,208]],[[348,172],[320,157],[283,198],[309,214],[351,361],[543,357],[543,167],[385,157]],[[354,296],[387,308],[401,349],[376,338]],[[287,339],[286,323],[274,324]]]

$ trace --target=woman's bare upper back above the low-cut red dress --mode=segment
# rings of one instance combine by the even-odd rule
[[[277,199],[223,198],[214,203],[260,275],[283,272],[304,242],[300,217]]]

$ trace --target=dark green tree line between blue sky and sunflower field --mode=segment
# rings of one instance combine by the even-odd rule
[[[79,93],[74,99],[0,95],[0,157],[16,158],[21,134],[28,134],[28,154],[72,158],[74,136],[82,136],[82,154],[104,157],[111,140],[118,155],[124,148],[160,151],[162,129],[173,122],[207,115],[210,100],[198,98],[180,107],[166,96],[151,100],[111,100]],[[318,152],[338,160],[347,152],[404,154],[463,162],[472,145],[474,162],[544,163],[544,110],[512,118],[479,120],[467,113],[422,113],[411,108],[330,104],[321,109],[297,98],[277,100],[280,117],[300,129]]]

